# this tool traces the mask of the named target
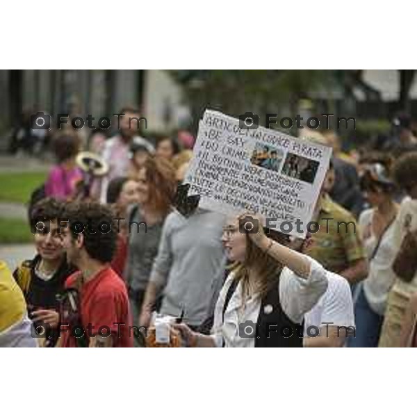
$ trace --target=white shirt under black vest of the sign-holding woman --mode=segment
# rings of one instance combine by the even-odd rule
[[[309,256],[303,256],[306,256],[311,261],[308,278],[299,277],[286,267],[282,269],[279,277],[281,308],[288,318],[295,323],[302,322],[304,313],[318,302],[327,288],[325,269]],[[224,301],[232,280],[233,272],[229,274],[224,282],[218,302],[215,305],[212,337],[215,339],[217,347],[222,347],[223,340],[225,347],[254,347],[254,337],[245,338],[239,336],[239,324],[243,324],[247,320],[256,324],[261,309],[261,299],[259,297],[251,297],[243,306],[241,282],[238,283],[224,312],[224,322],[222,320]],[[241,316],[240,311],[243,311]]]

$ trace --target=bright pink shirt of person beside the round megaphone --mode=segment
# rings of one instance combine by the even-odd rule
[[[83,172],[79,167],[72,170],[65,170],[60,165],[55,165],[49,172],[49,177],[45,183],[45,194],[47,197],[57,199],[67,199],[74,195],[76,184],[83,179]]]

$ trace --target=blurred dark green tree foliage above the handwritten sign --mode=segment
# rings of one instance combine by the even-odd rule
[[[396,108],[409,111],[409,91],[415,70],[400,72],[399,99]],[[172,76],[183,86],[195,120],[205,108],[218,109],[229,115],[246,111],[280,113],[282,109],[297,113],[300,99],[321,101],[332,92],[343,95],[338,110],[345,111],[347,103],[356,103],[360,90],[368,102],[382,103],[382,94],[364,79],[365,70],[174,70]],[[320,92],[320,94],[312,94]],[[326,101],[326,99],[324,100]],[[356,106],[354,104],[354,106]],[[347,109],[351,113],[352,108]]]

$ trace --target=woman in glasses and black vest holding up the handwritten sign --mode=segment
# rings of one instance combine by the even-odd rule
[[[248,215],[225,224],[222,242],[234,268],[215,306],[213,334],[174,325],[188,346],[302,347],[303,316],[325,293],[326,271],[260,224]]]

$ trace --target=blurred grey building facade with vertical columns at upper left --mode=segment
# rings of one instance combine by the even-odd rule
[[[0,92],[3,128],[19,123],[25,111],[98,120],[133,106],[148,129],[168,132],[183,122],[185,108],[179,85],[165,70],[1,70]]]

